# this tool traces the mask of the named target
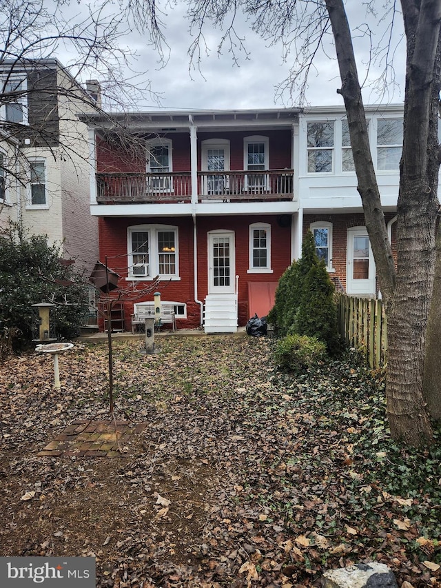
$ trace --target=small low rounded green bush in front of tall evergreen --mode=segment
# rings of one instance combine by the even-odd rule
[[[294,374],[301,374],[326,357],[326,345],[316,337],[290,334],[276,343],[276,365]]]

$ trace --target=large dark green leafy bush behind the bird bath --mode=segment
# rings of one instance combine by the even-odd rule
[[[36,316],[33,304],[54,304],[50,322],[59,338],[79,333],[88,313],[88,289],[83,276],[63,263],[61,251],[46,236],[30,235],[10,223],[0,235],[1,347],[19,349],[32,340]]]

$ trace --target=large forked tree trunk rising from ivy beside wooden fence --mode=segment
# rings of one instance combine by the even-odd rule
[[[325,0],[336,41],[353,158],[365,221],[388,316],[387,414],[393,438],[411,445],[431,443],[433,435],[422,397],[424,332],[434,265],[435,195],[427,190],[427,137],[433,63],[438,45],[439,0],[422,0],[422,17],[409,1],[407,91],[404,146],[398,199],[398,265],[391,268],[390,244],[382,217],[375,171],[367,142],[365,112],[342,0]],[[402,1],[403,5],[406,3]],[[412,9],[412,10],[411,10]],[[404,6],[403,6],[404,10]],[[425,47],[423,43],[426,43]],[[434,50],[433,50],[434,45]],[[425,52],[425,54],[424,54]],[[420,60],[423,59],[424,63]],[[366,139],[363,136],[366,134]],[[366,146],[367,145],[367,146]]]

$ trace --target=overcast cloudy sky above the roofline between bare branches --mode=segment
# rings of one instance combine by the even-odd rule
[[[384,1],[375,0],[374,4],[383,10],[381,7]],[[369,25],[373,45],[384,45],[389,17],[382,19],[382,14],[367,14],[363,8],[364,4],[353,0],[347,2],[359,77],[365,85],[363,99],[365,103],[401,103],[404,99],[404,42],[398,45],[393,58],[398,85],[393,85],[388,80],[385,94],[374,91],[372,83],[384,69],[384,55],[382,61],[372,63],[366,25]],[[80,0],[76,6],[81,10],[81,7],[85,7],[85,2]],[[148,80],[152,91],[157,93],[157,97],[154,97],[149,92],[143,92],[136,99],[136,109],[221,110],[299,105],[296,94],[290,96],[289,92],[280,94],[277,91],[278,85],[289,76],[289,66],[293,63],[294,55],[289,55],[287,61],[284,61],[283,45],[276,43],[270,46],[265,39],[251,30],[245,16],[238,15],[238,32],[248,53],[238,48],[235,53],[237,63],[234,62],[228,48],[225,48],[222,54],[218,54],[217,46],[222,32],[208,26],[205,29],[207,54],[203,52],[198,70],[191,68],[189,63],[188,49],[193,39],[189,34],[189,21],[185,19],[185,5],[178,1],[176,4],[167,4],[163,10],[163,31],[169,45],[168,48],[165,47],[165,63],[159,63],[158,52],[152,47],[148,34],[139,33],[133,25],[129,34],[119,41],[121,48],[127,43],[127,49],[136,54],[136,58],[129,58],[131,71],[127,77],[132,77],[133,72],[137,72],[137,80],[141,84]],[[391,48],[396,48],[400,37],[402,18],[400,14],[396,14],[396,28]],[[69,55],[63,56],[61,53],[59,59],[62,63],[68,63]],[[367,63],[370,63],[369,70],[365,66]],[[334,46],[328,43],[326,52],[318,52],[314,59],[314,68],[309,75],[306,103],[313,106],[342,105],[342,97],[336,92],[339,87],[335,50]]]

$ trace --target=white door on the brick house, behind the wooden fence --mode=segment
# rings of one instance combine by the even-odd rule
[[[348,294],[375,294],[376,270],[366,227],[347,231],[346,291]]]

